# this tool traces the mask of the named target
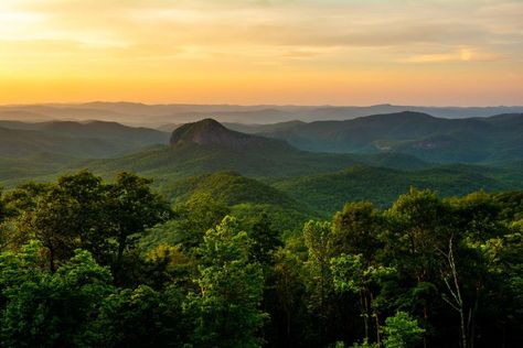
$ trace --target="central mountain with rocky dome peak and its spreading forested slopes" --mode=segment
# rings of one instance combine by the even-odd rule
[[[172,180],[217,171],[234,171],[252,177],[289,177],[329,173],[374,161],[383,163],[387,159],[306,152],[282,140],[236,132],[215,120],[204,119],[175,129],[169,146],[156,146],[116,160],[92,161],[86,165],[102,173],[129,170]],[[425,165],[412,157],[391,161],[396,162]]]

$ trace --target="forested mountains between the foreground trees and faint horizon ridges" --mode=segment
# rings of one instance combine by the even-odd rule
[[[329,216],[349,200],[386,207],[412,185],[445,196],[522,189],[522,120],[418,112],[264,126],[203,119],[172,133],[102,121],[0,121],[0,183],[132,171],[173,202],[206,193],[237,209]]]

